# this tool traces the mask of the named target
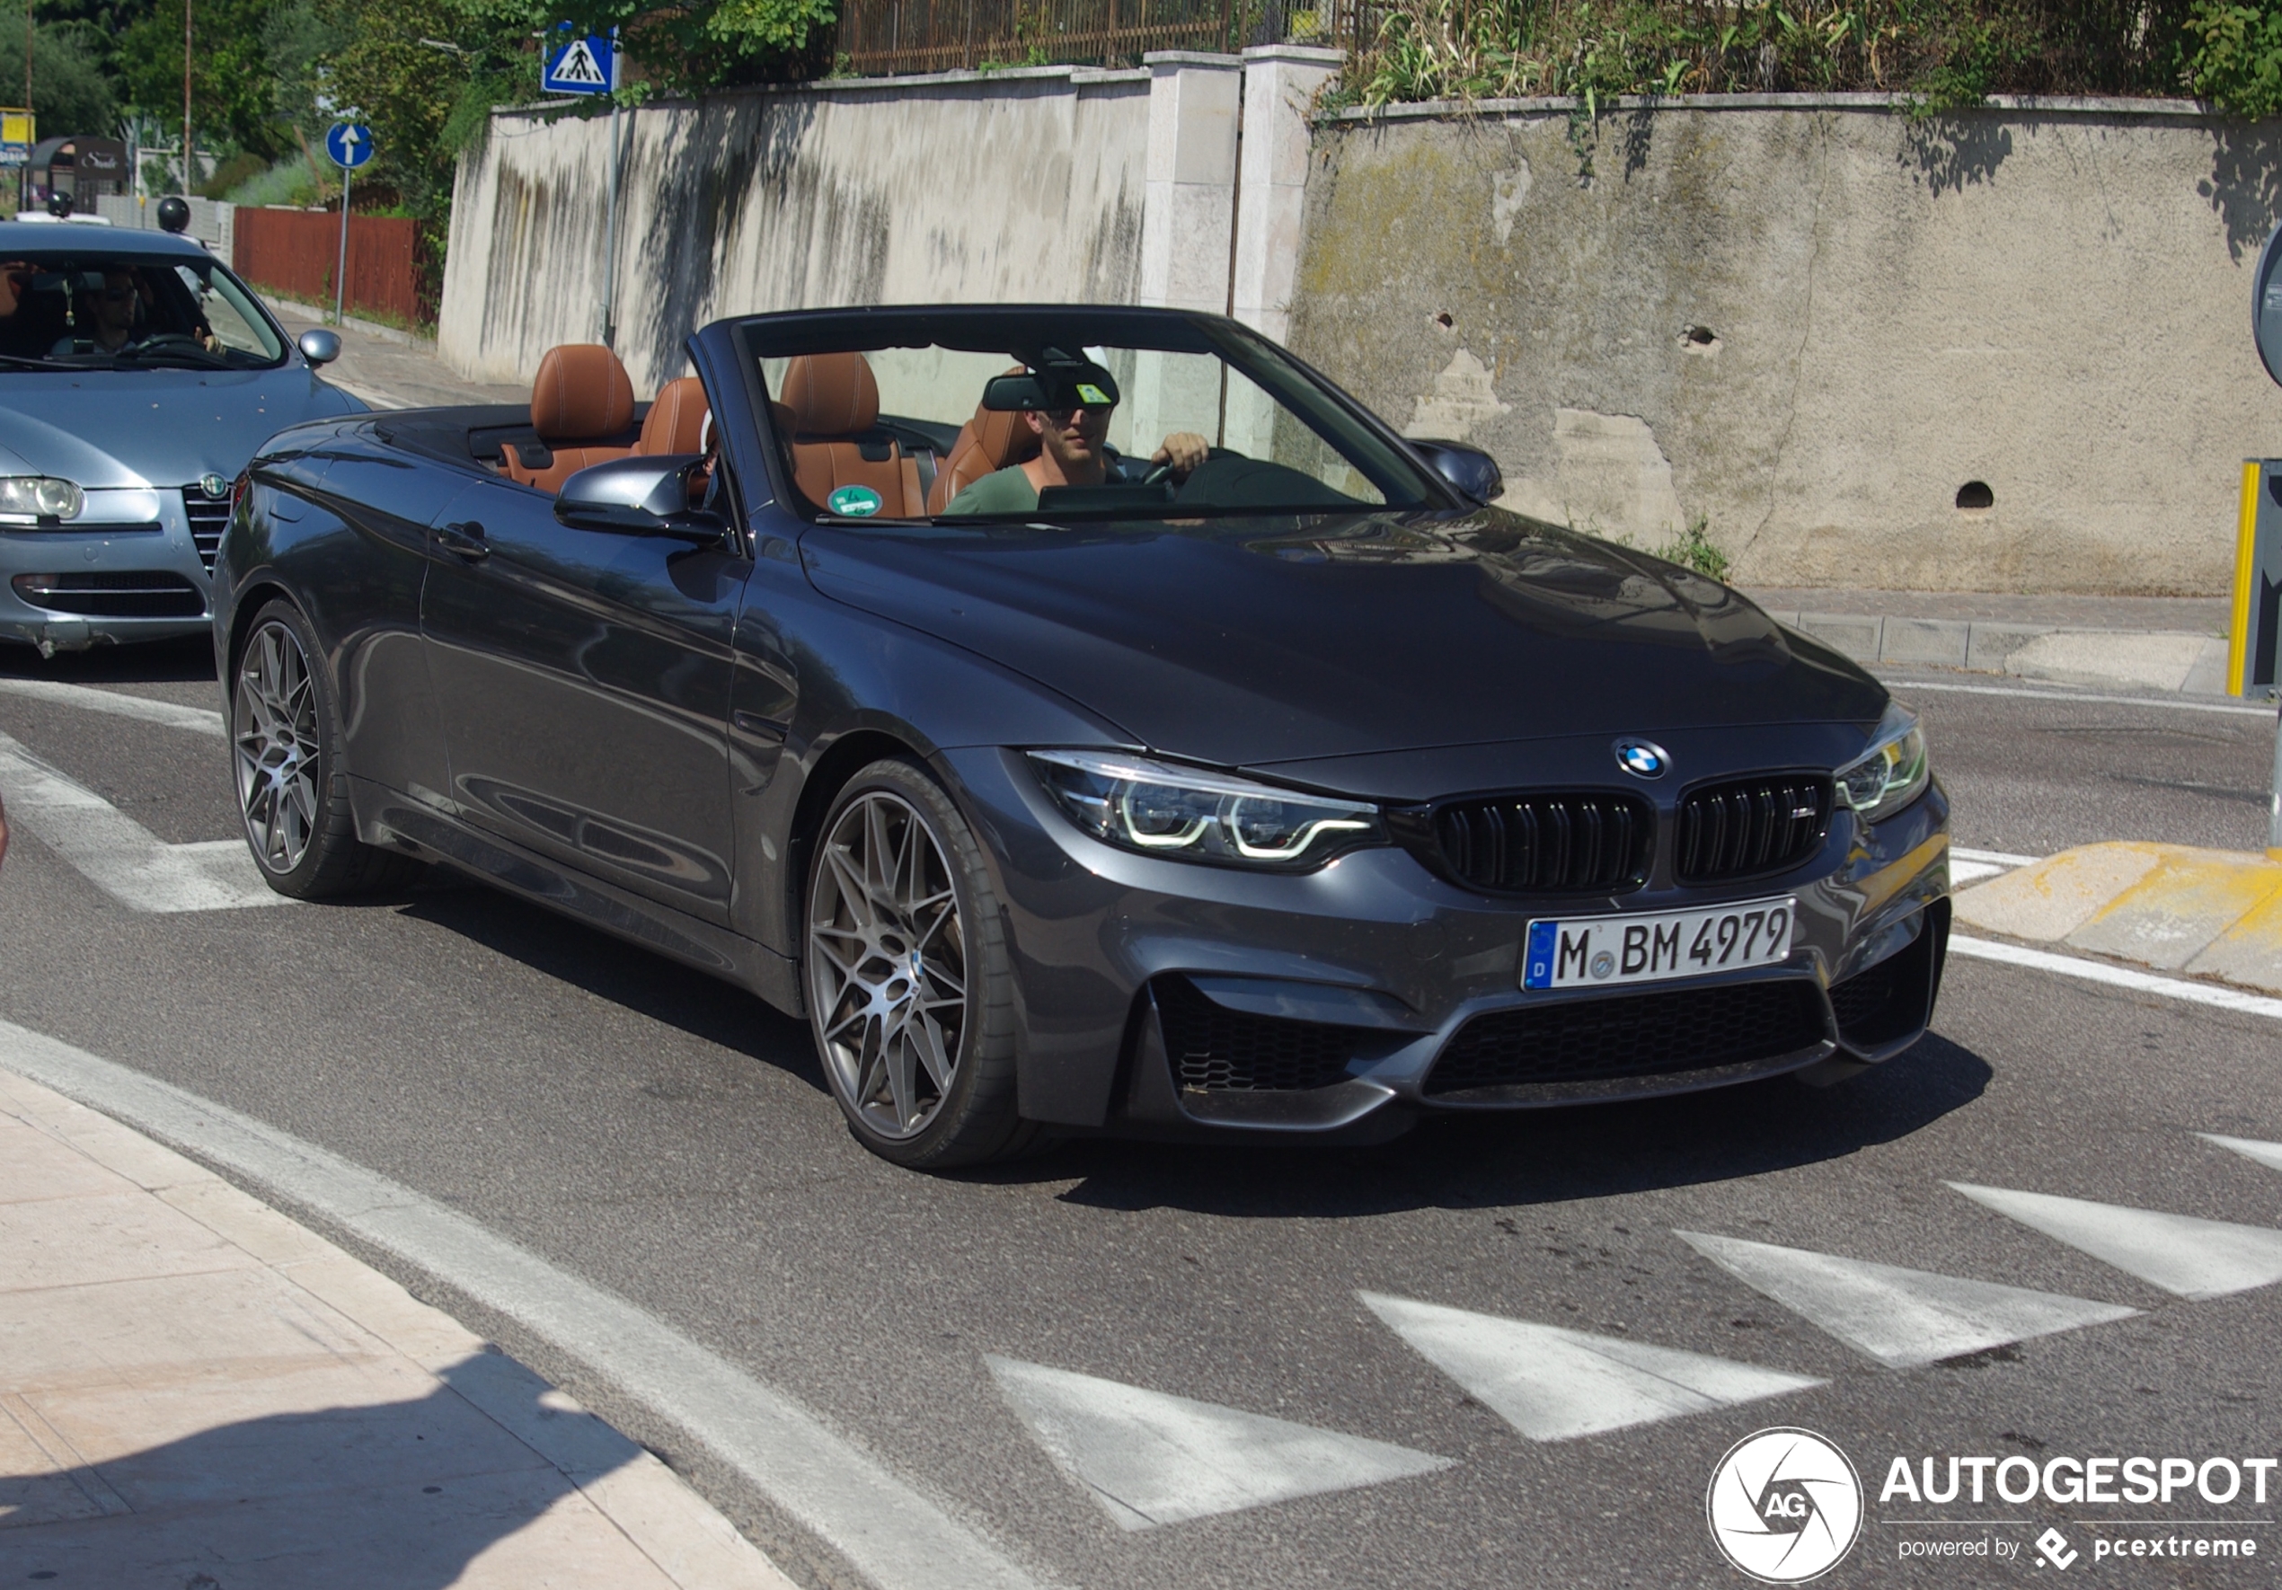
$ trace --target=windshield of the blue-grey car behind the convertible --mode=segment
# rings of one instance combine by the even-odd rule
[[[100,249],[0,260],[9,370],[265,370],[283,358],[269,317],[215,260]]]

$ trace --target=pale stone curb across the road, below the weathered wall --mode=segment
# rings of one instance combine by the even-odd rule
[[[1901,618],[1773,609],[1769,618],[1860,664],[2008,673],[2054,684],[2227,693],[2227,641],[2184,630],[2070,630],[1999,618]]]

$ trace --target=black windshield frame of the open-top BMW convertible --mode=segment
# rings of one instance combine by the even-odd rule
[[[1324,513],[1440,513],[1470,511],[1470,500],[1442,479],[1442,474],[1413,452],[1410,443],[1360,399],[1344,392],[1335,381],[1271,342],[1251,326],[1225,315],[1203,315],[1166,308],[1125,308],[1095,303],[990,303],[990,306],[876,306],[844,310],[785,310],[776,315],[753,315],[728,326],[737,349],[739,374],[755,411],[755,440],[767,461],[776,506],[810,525],[833,525],[842,529],[860,527],[1004,527],[1009,522],[1166,522],[1166,520],[1237,520],[1237,518],[1292,518]],[[1390,472],[1408,477],[1408,502],[1387,504],[1358,502],[1353,509],[1326,504],[1285,506],[1214,506],[1214,504],[1134,504],[1102,509],[1061,509],[1054,513],[938,513],[938,516],[872,516],[844,518],[808,497],[790,479],[790,459],[778,436],[771,413],[771,392],[762,374],[762,360],[790,358],[799,354],[876,354],[890,349],[940,347],[970,354],[1011,354],[1025,344],[1054,347],[1120,347],[1162,349],[1168,354],[1205,354],[1223,360],[1260,386],[1271,399],[1282,404],[1301,424],[1314,431],[1328,447],[1346,456],[1346,449],[1317,427],[1310,406],[1333,411],[1330,417],[1346,422],[1360,438],[1381,454],[1374,463],[1392,465]],[[1292,401],[1292,395],[1303,401]],[[1360,461],[1349,459],[1360,468]],[[1369,472],[1367,472],[1369,474]],[[1385,488],[1385,486],[1381,486]],[[1392,493],[1390,493],[1392,497]]]

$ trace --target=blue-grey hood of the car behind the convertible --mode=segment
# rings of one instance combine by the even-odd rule
[[[80,486],[233,477],[272,433],[354,413],[308,365],[276,370],[0,372],[0,470]]]

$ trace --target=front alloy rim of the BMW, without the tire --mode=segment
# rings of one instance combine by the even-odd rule
[[[968,1029],[952,867],[908,801],[874,789],[824,835],[808,901],[808,997],[833,1086],[883,1138],[929,1127]]]

